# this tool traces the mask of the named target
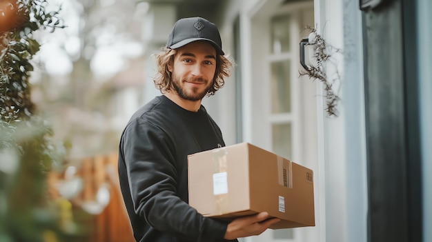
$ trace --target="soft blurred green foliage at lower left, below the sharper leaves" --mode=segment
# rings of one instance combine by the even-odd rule
[[[61,164],[61,144],[50,139],[50,128],[36,116],[0,122],[0,127],[7,134],[0,139],[0,238],[45,241],[48,231],[63,234],[57,228],[59,214],[48,199],[46,183],[47,172]]]

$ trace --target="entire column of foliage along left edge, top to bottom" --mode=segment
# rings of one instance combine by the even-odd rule
[[[40,48],[33,34],[63,28],[59,11],[47,13],[47,3],[0,5],[0,12],[15,10],[10,29],[0,32],[0,241],[60,241],[67,234],[46,181],[65,149],[30,99],[30,61]]]

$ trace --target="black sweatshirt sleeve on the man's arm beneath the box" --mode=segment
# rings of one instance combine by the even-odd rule
[[[224,241],[227,223],[202,216],[176,196],[173,141],[157,125],[139,118],[121,137],[135,213],[164,232],[193,241]]]

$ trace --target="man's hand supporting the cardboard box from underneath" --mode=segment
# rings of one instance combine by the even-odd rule
[[[277,223],[280,219],[268,219],[267,212],[260,212],[259,214],[244,216],[228,223],[224,239],[237,239],[246,236],[258,235],[264,232],[270,225]]]

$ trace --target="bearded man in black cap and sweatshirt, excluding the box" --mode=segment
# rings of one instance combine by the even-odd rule
[[[225,145],[201,101],[222,88],[230,65],[217,27],[200,17],[177,21],[157,55],[154,81],[163,95],[132,115],[119,145],[121,192],[137,241],[237,241],[279,221],[262,212],[228,223],[188,205],[188,154]]]

